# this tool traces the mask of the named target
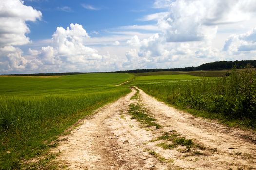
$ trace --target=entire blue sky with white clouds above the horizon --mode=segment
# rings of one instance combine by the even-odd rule
[[[256,60],[256,0],[0,0],[0,74]]]

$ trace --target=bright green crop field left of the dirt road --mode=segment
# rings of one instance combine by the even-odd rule
[[[130,74],[0,77],[0,169],[20,169],[57,135],[130,90]]]

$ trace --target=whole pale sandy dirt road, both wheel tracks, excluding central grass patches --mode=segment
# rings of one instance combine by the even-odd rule
[[[256,169],[256,135],[179,111],[135,88],[125,97],[98,109],[69,135],[59,137],[54,160],[71,170],[250,170]],[[131,119],[129,105],[139,104],[162,128]],[[156,140],[179,134],[193,145],[163,149]],[[154,140],[155,139],[155,140]]]

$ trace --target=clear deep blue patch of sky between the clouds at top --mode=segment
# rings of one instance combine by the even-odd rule
[[[24,5],[32,6],[43,13],[42,20],[30,22],[32,40],[51,37],[56,27],[68,27],[79,23],[89,34],[125,25],[152,24],[156,21],[139,21],[147,14],[163,11],[153,8],[154,0],[26,0]],[[86,8],[87,7],[87,8]],[[90,9],[91,7],[91,9]]]

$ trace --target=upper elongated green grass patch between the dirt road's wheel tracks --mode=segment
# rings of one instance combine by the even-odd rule
[[[137,119],[141,124],[145,125],[145,127],[155,126],[156,129],[160,129],[161,125],[156,123],[156,119],[149,116],[145,110],[142,110],[140,105],[137,103],[129,105],[129,113],[132,115],[132,119]]]

